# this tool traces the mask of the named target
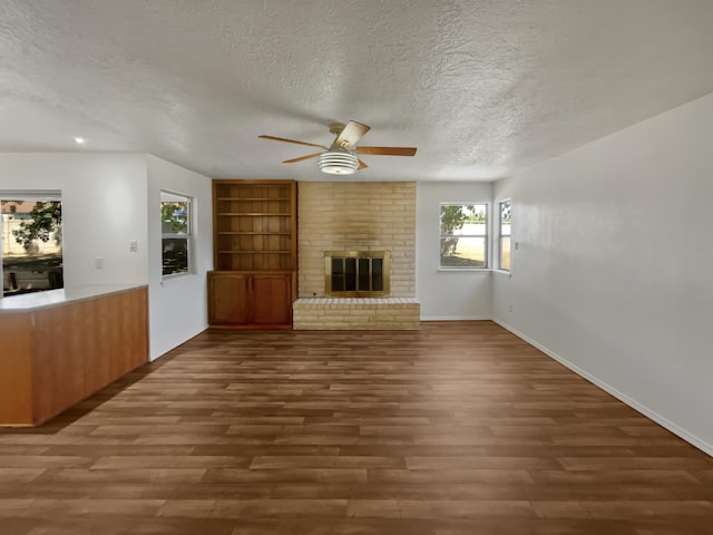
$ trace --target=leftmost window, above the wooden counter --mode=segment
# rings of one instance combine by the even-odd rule
[[[64,288],[60,192],[0,192],[0,207],[2,295]]]

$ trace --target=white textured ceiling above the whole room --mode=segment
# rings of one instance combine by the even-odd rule
[[[712,28],[711,0],[2,0],[0,150],[320,179],[257,136],[354,119],[419,149],[360,179],[494,179],[712,91]]]

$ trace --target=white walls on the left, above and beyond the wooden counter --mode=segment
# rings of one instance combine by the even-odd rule
[[[162,281],[160,189],[194,197],[191,275]],[[0,189],[60,189],[65,285],[148,284],[156,359],[207,327],[211,179],[146,154],[0,154]],[[129,242],[138,242],[137,252]],[[95,259],[104,259],[104,269]],[[12,299],[12,298],[9,298]]]

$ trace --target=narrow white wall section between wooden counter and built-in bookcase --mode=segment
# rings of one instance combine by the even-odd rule
[[[207,328],[206,271],[213,269],[212,182],[148,156],[148,281],[150,358],[156,359]],[[163,281],[160,191],[193,197],[193,272]]]

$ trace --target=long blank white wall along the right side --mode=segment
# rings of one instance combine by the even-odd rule
[[[711,139],[713,94],[496,184],[494,315],[713,455]]]

